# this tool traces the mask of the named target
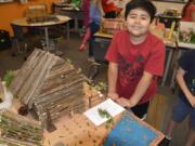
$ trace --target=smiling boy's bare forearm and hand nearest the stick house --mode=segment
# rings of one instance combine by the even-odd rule
[[[116,83],[117,83],[117,78],[118,78],[118,64],[109,62],[107,75],[108,75],[107,96],[115,101],[118,98],[118,94],[116,92]]]

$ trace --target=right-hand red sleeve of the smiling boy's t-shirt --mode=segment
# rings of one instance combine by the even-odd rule
[[[159,41],[154,45],[154,49],[146,61],[144,70],[156,76],[162,76],[164,67],[165,67],[165,44],[162,41]]]

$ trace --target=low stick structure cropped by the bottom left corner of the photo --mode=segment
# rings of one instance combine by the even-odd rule
[[[1,146],[42,146],[40,122],[29,120],[8,109],[0,109]]]

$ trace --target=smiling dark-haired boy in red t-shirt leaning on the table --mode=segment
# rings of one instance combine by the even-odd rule
[[[150,0],[128,2],[127,30],[114,36],[105,56],[109,61],[108,97],[131,108],[139,118],[147,112],[157,79],[164,72],[165,44],[148,31],[155,13]]]

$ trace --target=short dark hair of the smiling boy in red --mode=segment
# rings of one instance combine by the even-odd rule
[[[125,18],[127,19],[131,10],[139,8],[146,11],[151,16],[151,22],[153,22],[156,14],[156,6],[151,2],[151,0],[131,0],[128,2],[126,4]]]

